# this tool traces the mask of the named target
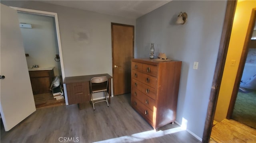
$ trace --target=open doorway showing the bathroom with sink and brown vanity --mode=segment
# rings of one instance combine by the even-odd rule
[[[18,20],[36,108],[65,104],[55,18],[18,12]]]

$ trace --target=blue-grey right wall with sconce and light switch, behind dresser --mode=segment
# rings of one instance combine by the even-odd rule
[[[134,55],[147,58],[150,43],[156,56],[182,61],[176,121],[187,120],[187,129],[202,138],[206,111],[224,16],[226,1],[171,1],[136,20]],[[176,25],[180,12],[188,14],[187,23]],[[199,62],[198,70],[193,69]],[[183,122],[184,123],[184,122]]]

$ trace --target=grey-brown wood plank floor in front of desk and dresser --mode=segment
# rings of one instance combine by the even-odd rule
[[[1,124],[1,143],[73,142],[141,142],[141,143],[200,143],[177,124],[154,129],[130,106],[130,94],[114,96],[105,102],[37,109],[10,131]],[[77,140],[78,139],[78,140]],[[69,140],[68,142],[72,142]]]

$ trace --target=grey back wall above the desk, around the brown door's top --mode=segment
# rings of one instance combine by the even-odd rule
[[[6,6],[58,14],[65,76],[112,75],[111,22],[135,25],[127,19],[36,1],[3,1]]]

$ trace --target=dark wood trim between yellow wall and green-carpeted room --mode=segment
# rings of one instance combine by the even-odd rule
[[[251,18],[250,18],[249,26],[248,26],[245,41],[244,41],[244,47],[243,47],[242,55],[241,55],[241,58],[240,58],[238,71],[236,73],[236,80],[235,80],[235,83],[234,83],[234,88],[233,88],[233,91],[232,91],[230,104],[229,104],[229,107],[228,107],[228,114],[227,114],[227,117],[226,117],[227,119],[230,119],[232,114],[233,114],[234,106],[235,106],[235,103],[236,103],[236,97],[237,97],[237,94],[238,94],[240,81],[242,79],[242,75],[243,75],[243,71],[244,71],[244,65],[245,65],[248,50],[249,50],[248,45],[250,43],[250,39],[252,37],[252,33],[253,33],[254,25],[255,25],[255,20],[256,20],[256,8],[252,9]]]

